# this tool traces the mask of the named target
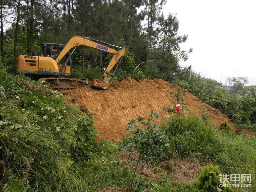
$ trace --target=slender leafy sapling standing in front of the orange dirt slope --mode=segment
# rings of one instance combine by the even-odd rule
[[[136,179],[137,187],[141,188],[137,182],[136,177],[136,171],[140,161],[146,163],[149,166],[153,163],[155,157],[160,156],[166,152],[170,145],[168,142],[168,137],[163,131],[160,130],[158,124],[154,123],[154,118],[158,119],[159,114],[153,110],[148,112],[148,114],[149,116],[146,122],[145,117],[140,116],[136,118],[137,120],[129,119],[129,123],[127,124],[127,129],[125,131],[130,131],[133,135],[133,139],[130,142],[124,141],[120,143],[119,146],[121,151],[128,151],[129,157],[132,155],[132,148],[138,150],[138,153],[140,154],[138,159],[134,159],[133,157],[128,159],[129,163],[136,163],[136,165],[130,165],[133,171],[130,191],[132,190],[134,177]],[[137,122],[139,124],[137,124]],[[145,128],[142,129],[140,126],[144,126]],[[140,183],[145,183],[145,180]],[[149,190],[149,185],[147,185],[146,188]]]

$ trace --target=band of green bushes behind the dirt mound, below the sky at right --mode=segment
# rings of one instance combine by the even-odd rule
[[[248,82],[247,77],[228,77],[228,82],[234,87],[234,93],[226,89],[213,87],[216,81],[201,77],[200,73],[194,72],[191,66],[182,67],[174,79],[174,83],[187,89],[213,108],[226,114],[235,124],[255,124],[256,96],[255,86],[243,87]],[[238,97],[238,94],[241,97]]]

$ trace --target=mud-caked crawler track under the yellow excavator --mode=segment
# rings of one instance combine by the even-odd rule
[[[52,87],[54,89],[81,88],[85,85],[88,85],[88,79],[76,79],[65,77],[41,78],[40,81],[45,81],[47,87]]]

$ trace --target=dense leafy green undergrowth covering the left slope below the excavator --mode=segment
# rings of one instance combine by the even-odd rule
[[[93,120],[42,82],[0,73],[0,185],[6,191],[84,189],[73,166],[91,155]]]

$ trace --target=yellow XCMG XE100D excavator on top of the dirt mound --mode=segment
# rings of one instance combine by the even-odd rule
[[[66,45],[54,43],[41,43],[41,56],[20,55],[15,62],[16,72],[19,74],[29,75],[31,77],[44,80],[48,87],[52,88],[80,88],[84,84],[88,84],[88,79],[69,78],[72,72],[72,54],[77,46],[91,47],[100,51],[113,54],[111,61],[108,64],[106,71],[103,74],[102,80],[91,86],[101,89],[107,89],[109,80],[114,73],[110,73],[111,69],[120,62],[124,57],[125,50],[122,47],[111,45],[102,41],[93,39],[90,36],[80,36],[77,33],[68,40]],[[72,53],[69,51],[74,48]],[[117,50],[121,49],[121,50]],[[115,71],[116,71],[115,69]],[[107,74],[110,76],[107,77]]]

